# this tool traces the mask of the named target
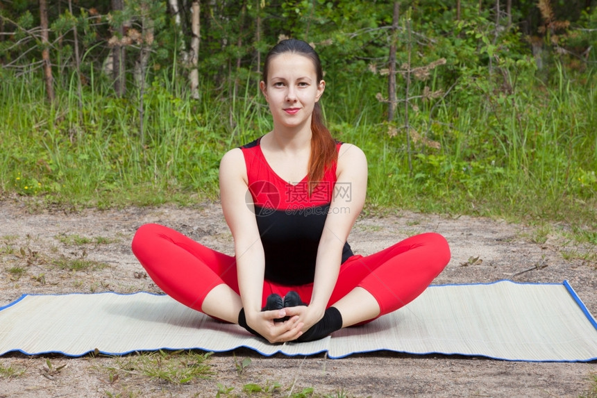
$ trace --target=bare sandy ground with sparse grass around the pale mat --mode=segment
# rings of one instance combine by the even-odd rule
[[[165,224],[228,254],[233,247],[218,204],[66,211],[5,199],[0,201],[0,220],[0,306],[26,293],[160,292],[130,249],[135,230],[146,222]],[[361,217],[349,242],[355,253],[370,254],[426,231],[442,233],[453,254],[435,284],[565,279],[591,313],[597,313],[597,248],[573,240],[563,225],[530,227],[396,211],[385,217]],[[60,259],[108,266],[62,270],[56,265]],[[243,358],[251,358],[251,365],[239,372]],[[332,360],[324,354],[266,358],[239,349],[214,354],[208,363],[215,371],[210,379],[180,385],[123,370],[122,358],[11,353],[0,357],[0,397],[215,397],[222,388],[233,390],[221,396],[237,397],[248,395],[243,386],[250,383],[269,387],[269,392],[251,397],[287,397],[306,393],[305,388],[312,388],[315,396],[579,397],[587,394],[597,377],[596,362],[522,363],[391,352]],[[12,371],[16,373],[11,375]],[[274,383],[280,387],[274,389]]]

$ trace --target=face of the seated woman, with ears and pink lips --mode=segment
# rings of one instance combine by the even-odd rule
[[[265,95],[274,125],[310,126],[315,103],[326,88],[317,81],[313,61],[297,53],[281,53],[269,60],[267,82],[260,88]]]

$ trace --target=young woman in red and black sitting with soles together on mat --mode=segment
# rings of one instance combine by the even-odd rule
[[[424,233],[370,256],[346,242],[365,200],[367,160],[321,120],[319,56],[283,40],[261,91],[274,128],[224,155],[220,194],[234,239],[227,256],[165,226],[142,226],[133,252],[167,295],[269,342],[317,340],[415,299],[450,260]]]

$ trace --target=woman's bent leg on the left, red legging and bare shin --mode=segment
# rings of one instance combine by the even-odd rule
[[[212,317],[237,322],[242,304],[234,257],[158,224],[141,226],[132,248],[167,295]]]

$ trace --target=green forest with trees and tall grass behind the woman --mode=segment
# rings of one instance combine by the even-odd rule
[[[40,206],[217,200],[269,131],[280,38],[319,52],[366,211],[565,222],[597,243],[597,2],[3,0],[0,195]]]

